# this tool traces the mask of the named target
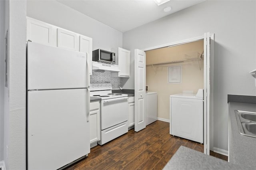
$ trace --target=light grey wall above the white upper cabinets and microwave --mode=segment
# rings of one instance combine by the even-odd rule
[[[93,50],[118,52],[118,47],[122,47],[122,32],[55,0],[28,0],[27,16],[91,37]]]

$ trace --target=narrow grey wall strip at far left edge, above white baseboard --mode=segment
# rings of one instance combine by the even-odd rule
[[[5,1],[0,1],[0,160],[4,160],[4,35]]]

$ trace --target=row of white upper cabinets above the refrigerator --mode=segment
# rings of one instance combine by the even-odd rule
[[[27,41],[87,53],[92,75],[92,38],[29,17],[26,35]]]

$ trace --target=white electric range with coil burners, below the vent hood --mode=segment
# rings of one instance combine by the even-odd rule
[[[100,129],[102,145],[128,132],[128,95],[112,93],[110,83],[91,83],[90,96],[100,101]]]

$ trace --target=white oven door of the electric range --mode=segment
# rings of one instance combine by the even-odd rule
[[[101,101],[101,130],[128,121],[128,97]]]

